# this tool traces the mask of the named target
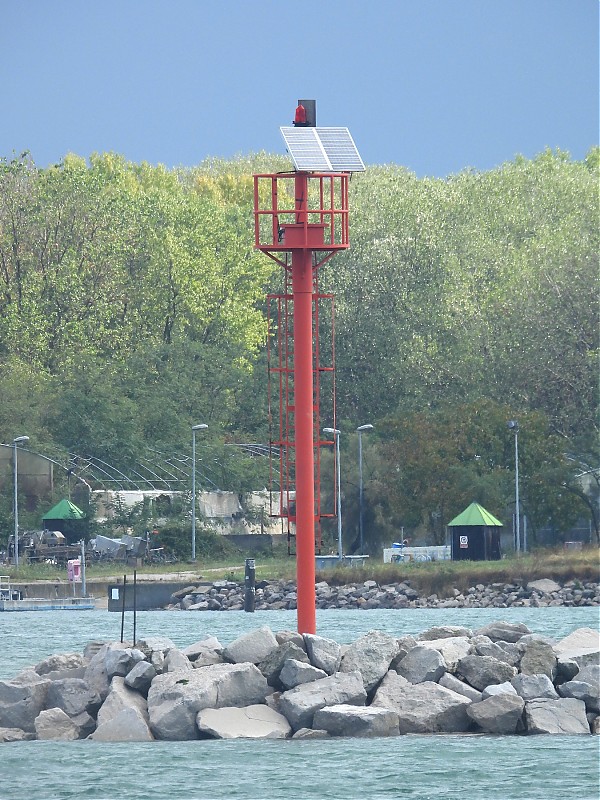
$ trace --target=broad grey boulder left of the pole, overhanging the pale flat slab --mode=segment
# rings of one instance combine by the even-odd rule
[[[157,739],[196,739],[198,711],[262,703],[268,691],[266,678],[254,664],[166,672],[156,676],[148,692],[150,726]]]

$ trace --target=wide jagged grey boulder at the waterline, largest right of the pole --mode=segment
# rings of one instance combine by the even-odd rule
[[[392,681],[382,682],[372,706],[397,711],[400,733],[458,733],[471,727],[466,712],[471,701],[464,695],[433,681],[407,683],[394,691]]]

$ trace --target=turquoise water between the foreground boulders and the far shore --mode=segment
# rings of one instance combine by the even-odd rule
[[[317,633],[344,644],[377,629],[393,636],[417,634],[433,625],[476,629],[494,620],[524,622],[534,633],[561,639],[576,628],[597,628],[600,609],[587,608],[411,608],[381,611],[317,611]],[[141,611],[137,638],[168,636],[179,647],[214,635],[229,644],[252,628],[296,629],[295,611]],[[133,613],[125,614],[125,639],[133,636]],[[92,639],[119,640],[121,615],[108,611],[20,611],[0,614],[0,679],[54,653],[81,653]],[[0,795],[0,800],[2,796]]]

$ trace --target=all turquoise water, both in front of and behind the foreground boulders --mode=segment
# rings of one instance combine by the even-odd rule
[[[432,625],[524,622],[560,639],[598,626],[597,608],[319,611],[317,633],[350,642],[368,630],[397,636]],[[295,629],[295,612],[169,612],[137,616],[137,635],[185,646],[223,644],[252,628]],[[119,639],[106,611],[0,615],[0,678],[53,653]],[[133,632],[125,617],[125,637]],[[400,736],[317,741],[198,741],[0,745],[0,800],[598,800],[593,736]]]

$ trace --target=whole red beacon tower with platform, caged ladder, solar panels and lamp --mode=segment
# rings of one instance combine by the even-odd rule
[[[348,181],[365,166],[347,128],[316,127],[314,101],[300,100],[293,126],[281,133],[294,170],[254,176],[255,246],[285,271],[283,294],[269,298],[277,317],[275,345],[269,346],[271,444],[279,453],[274,516],[287,518],[288,534],[295,523],[298,631],[315,633],[315,531],[322,516],[332,516],[321,512],[320,448],[333,442],[320,437],[319,398],[334,352],[333,341],[328,348],[319,342],[320,304],[333,298],[319,293],[318,270],[350,246]]]

